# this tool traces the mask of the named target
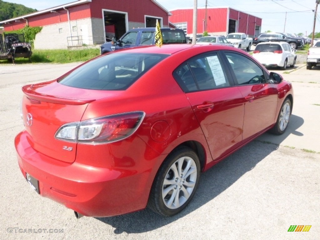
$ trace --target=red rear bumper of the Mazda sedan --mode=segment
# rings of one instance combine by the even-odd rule
[[[29,142],[26,132],[16,136],[18,163],[25,178],[28,173],[38,180],[41,196],[91,217],[115,216],[146,207],[155,174],[151,169],[66,163],[36,152]]]

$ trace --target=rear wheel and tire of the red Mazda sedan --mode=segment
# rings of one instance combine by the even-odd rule
[[[196,153],[181,147],[170,153],[153,181],[148,208],[163,215],[181,212],[196,192],[200,177],[200,162]]]

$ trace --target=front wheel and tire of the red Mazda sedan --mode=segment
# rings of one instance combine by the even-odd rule
[[[276,135],[281,135],[285,132],[291,116],[291,106],[291,101],[288,98],[286,98],[280,108],[277,122],[270,132]]]

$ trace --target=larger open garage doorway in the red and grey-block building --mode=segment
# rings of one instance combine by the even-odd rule
[[[103,10],[106,41],[113,37],[119,39],[128,31],[128,13]]]

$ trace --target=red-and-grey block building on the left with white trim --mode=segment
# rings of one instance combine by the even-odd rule
[[[121,37],[127,30],[155,27],[158,19],[169,26],[171,13],[155,0],[106,1],[78,0],[25,16],[0,22],[5,31],[25,25],[43,27],[36,35],[36,49],[59,49],[84,44],[101,44],[113,36]]]

